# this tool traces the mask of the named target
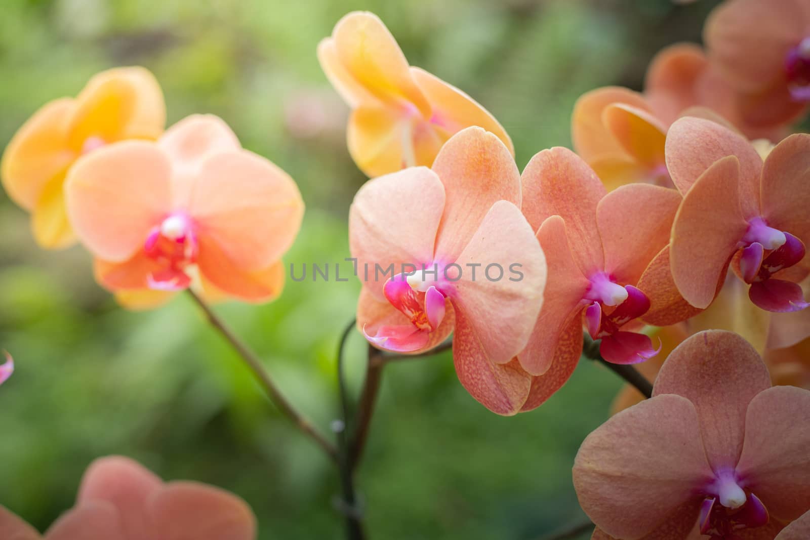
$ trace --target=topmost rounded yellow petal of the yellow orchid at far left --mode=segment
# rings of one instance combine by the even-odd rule
[[[166,105],[155,75],[140,66],[96,74],[76,96],[67,121],[68,144],[82,151],[87,138],[104,142],[156,139],[166,125]]]

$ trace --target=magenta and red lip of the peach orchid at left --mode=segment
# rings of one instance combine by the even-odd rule
[[[143,250],[157,266],[147,277],[151,288],[177,291],[190,285],[186,270],[197,259],[198,244],[187,215],[169,215],[149,232]]]

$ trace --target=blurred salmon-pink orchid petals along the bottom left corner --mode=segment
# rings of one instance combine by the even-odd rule
[[[126,457],[104,457],[84,474],[76,505],[44,538],[0,507],[4,540],[254,540],[245,501],[194,482],[163,483]]]

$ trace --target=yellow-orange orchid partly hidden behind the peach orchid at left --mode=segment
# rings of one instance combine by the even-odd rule
[[[67,172],[88,153],[130,138],[156,139],[166,108],[155,77],[143,67],[96,74],[74,98],[45,104],[9,142],[2,157],[2,184],[31,212],[43,248],[75,243],[62,190]]]

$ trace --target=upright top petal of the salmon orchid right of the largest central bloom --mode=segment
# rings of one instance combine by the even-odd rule
[[[588,165],[567,148],[536,154],[521,176],[523,215],[539,228],[549,216],[565,220],[568,241],[582,274],[603,269],[596,207],[607,190]]]

